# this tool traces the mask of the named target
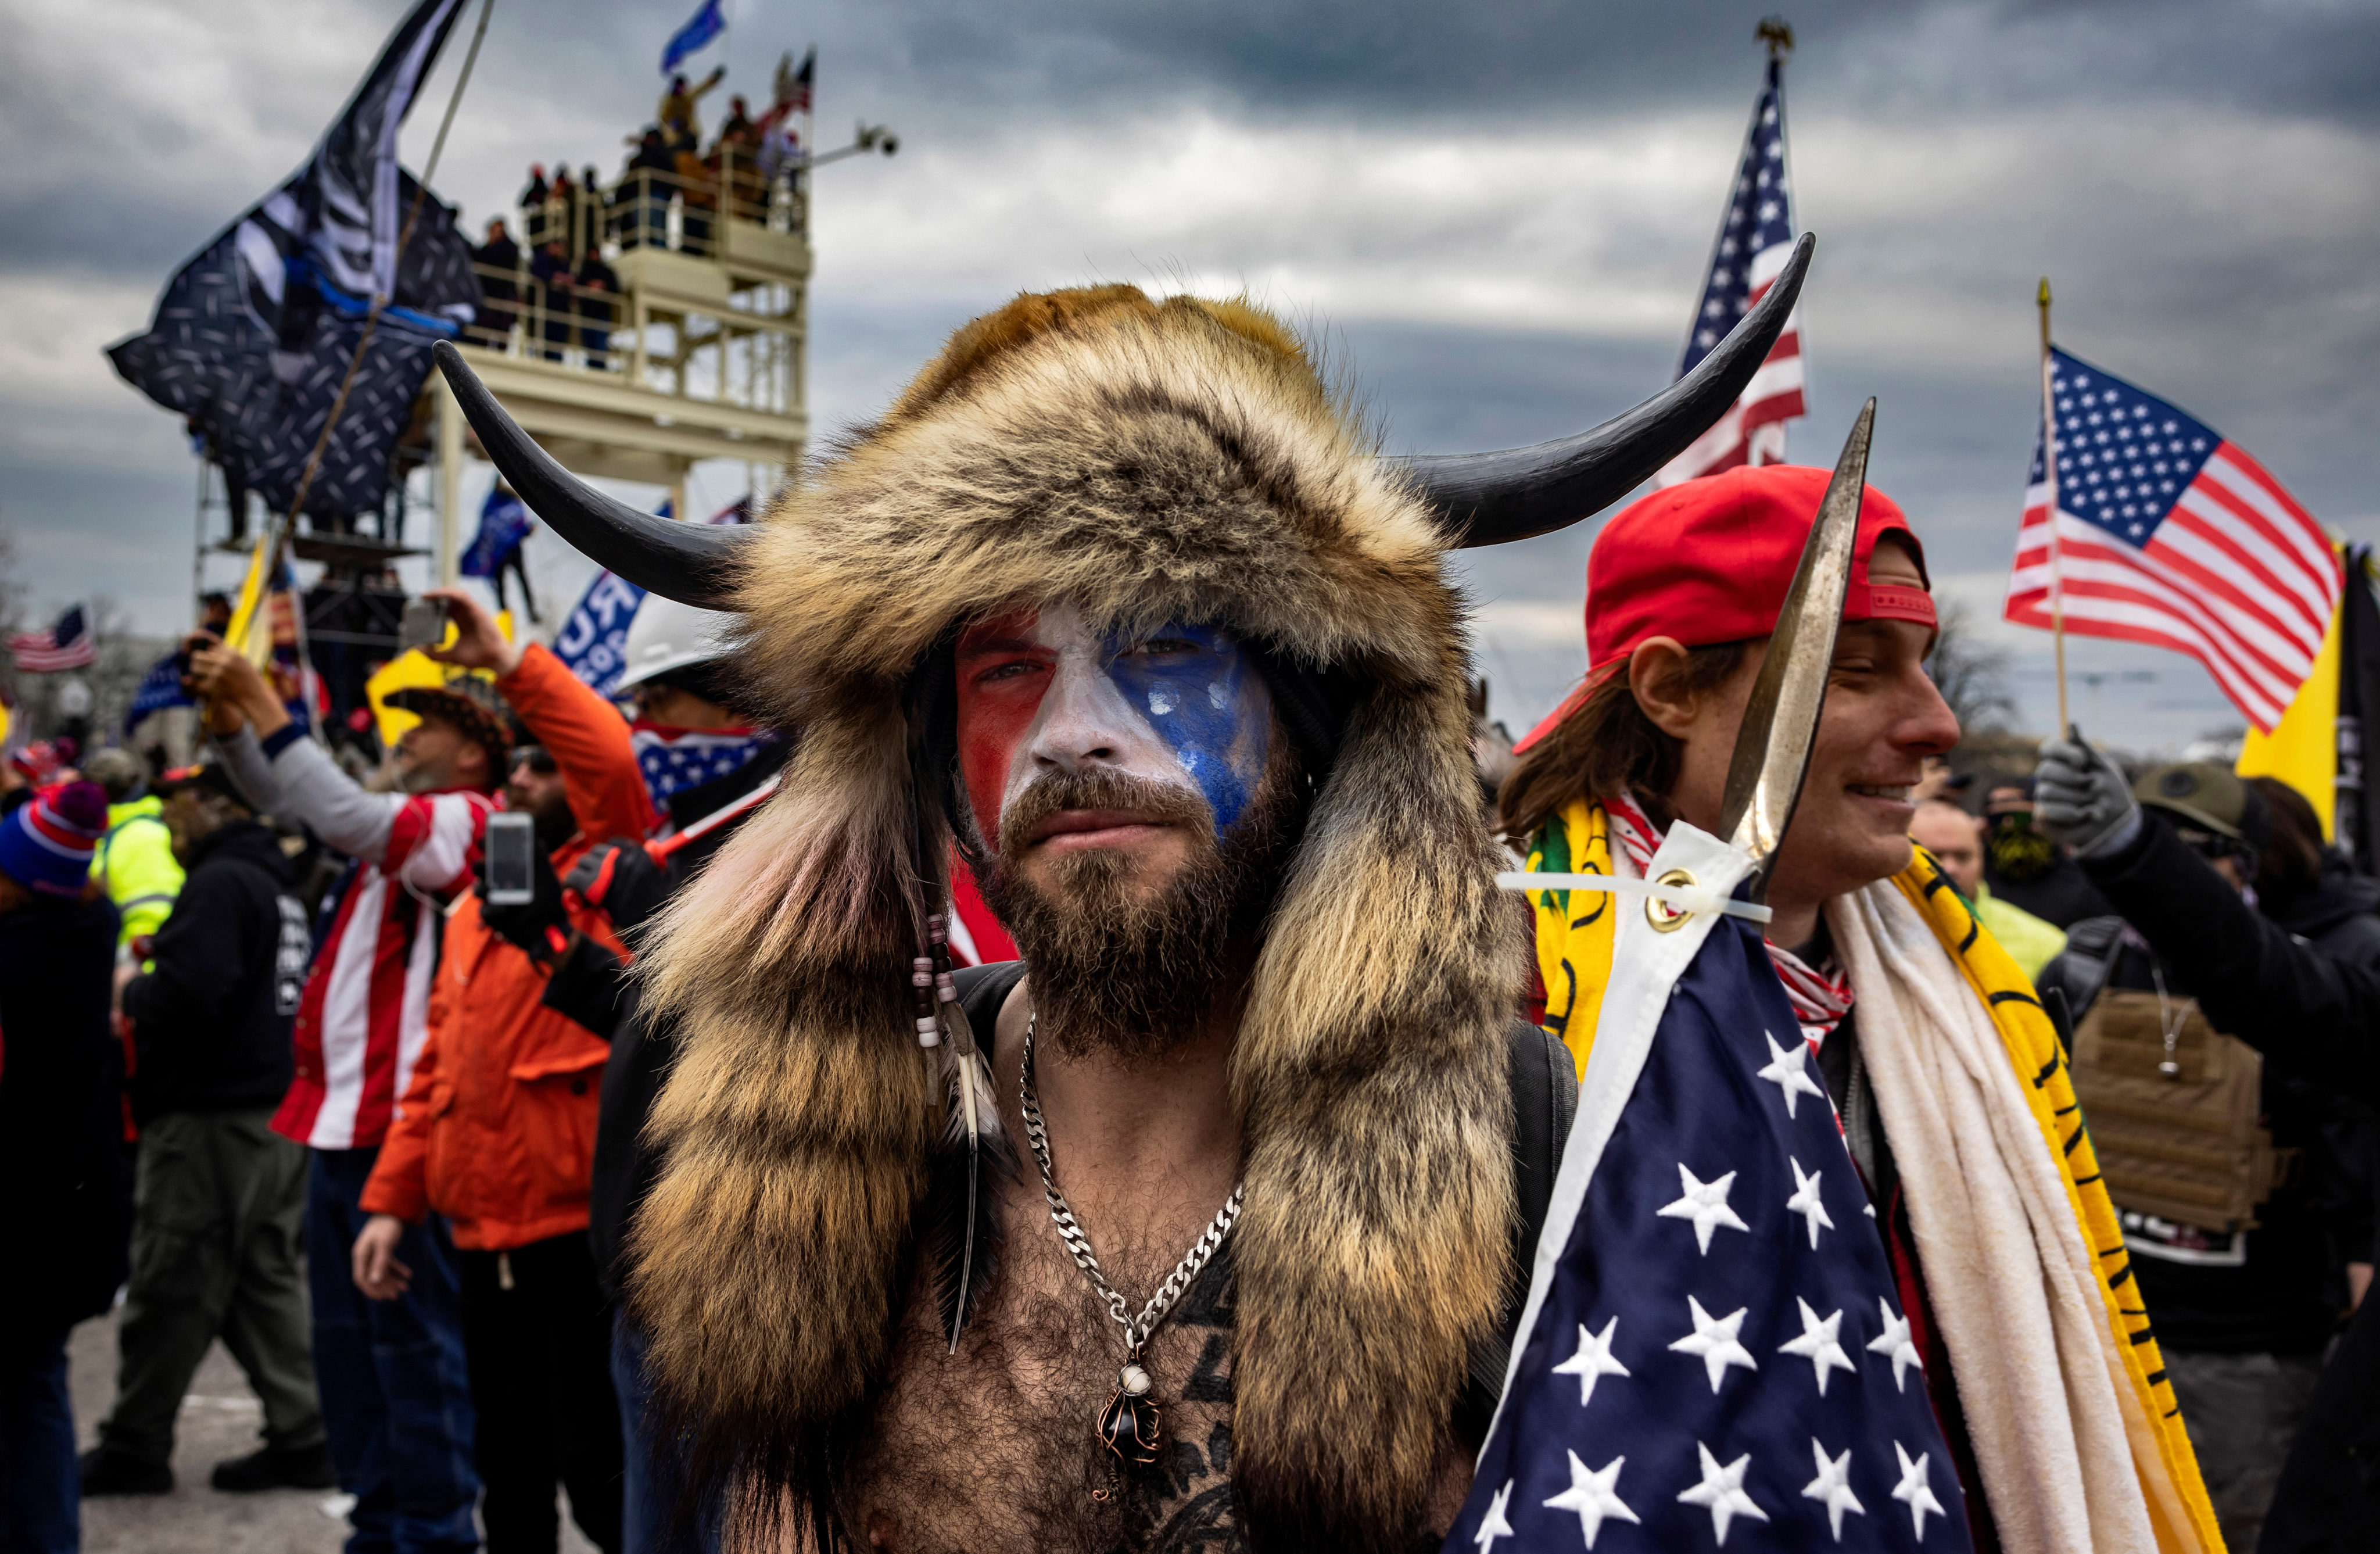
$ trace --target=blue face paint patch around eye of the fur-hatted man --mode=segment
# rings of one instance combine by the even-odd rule
[[[1166,624],[1138,643],[1109,640],[1107,673],[1173,747],[1228,831],[1264,778],[1271,702],[1240,645],[1216,626]]]

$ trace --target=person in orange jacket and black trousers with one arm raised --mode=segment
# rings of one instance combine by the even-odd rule
[[[355,1283],[405,1292],[405,1226],[431,1209],[455,1233],[462,1337],[478,1414],[490,1554],[552,1552],[555,1487],[612,1554],[621,1537],[621,1437],[609,1376],[609,1311],[588,1252],[595,1109],[609,1042],[543,1004],[574,935],[626,957],[600,911],[566,904],[555,873],[590,838],[643,835],[652,802],[628,723],[545,647],[505,643],[471,602],[455,609],[538,740],[514,752],[505,804],[536,816],[550,850],[540,900],[488,909],[464,895],[445,926],[428,1042],[364,1188],[371,1221],[355,1242]],[[416,693],[419,695],[419,693]]]

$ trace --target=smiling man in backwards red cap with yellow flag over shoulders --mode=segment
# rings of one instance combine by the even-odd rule
[[[1642,876],[1668,826],[1718,831],[1825,485],[1823,469],[1735,469],[1604,528],[1585,683],[1521,740],[1499,795],[1533,871]],[[1909,1314],[1875,1345],[1923,1371],[1975,1544],[2221,1549],[2056,1035],[2023,971],[1909,845],[1925,757],[1959,740],[1925,673],[1933,640],[1925,552],[1868,488],[1825,712],[1766,895],[1804,1040],[1761,1078],[1840,1111]],[[1645,923],[1609,895],[1530,900],[1542,1023],[1587,1076],[1614,954]]]

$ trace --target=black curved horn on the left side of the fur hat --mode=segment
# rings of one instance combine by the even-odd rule
[[[752,540],[752,528],[678,524],[614,502],[538,447],[521,424],[505,414],[459,350],[440,340],[433,355],[488,459],[555,533],[597,566],[664,600],[700,609],[735,607],[735,557]]]

